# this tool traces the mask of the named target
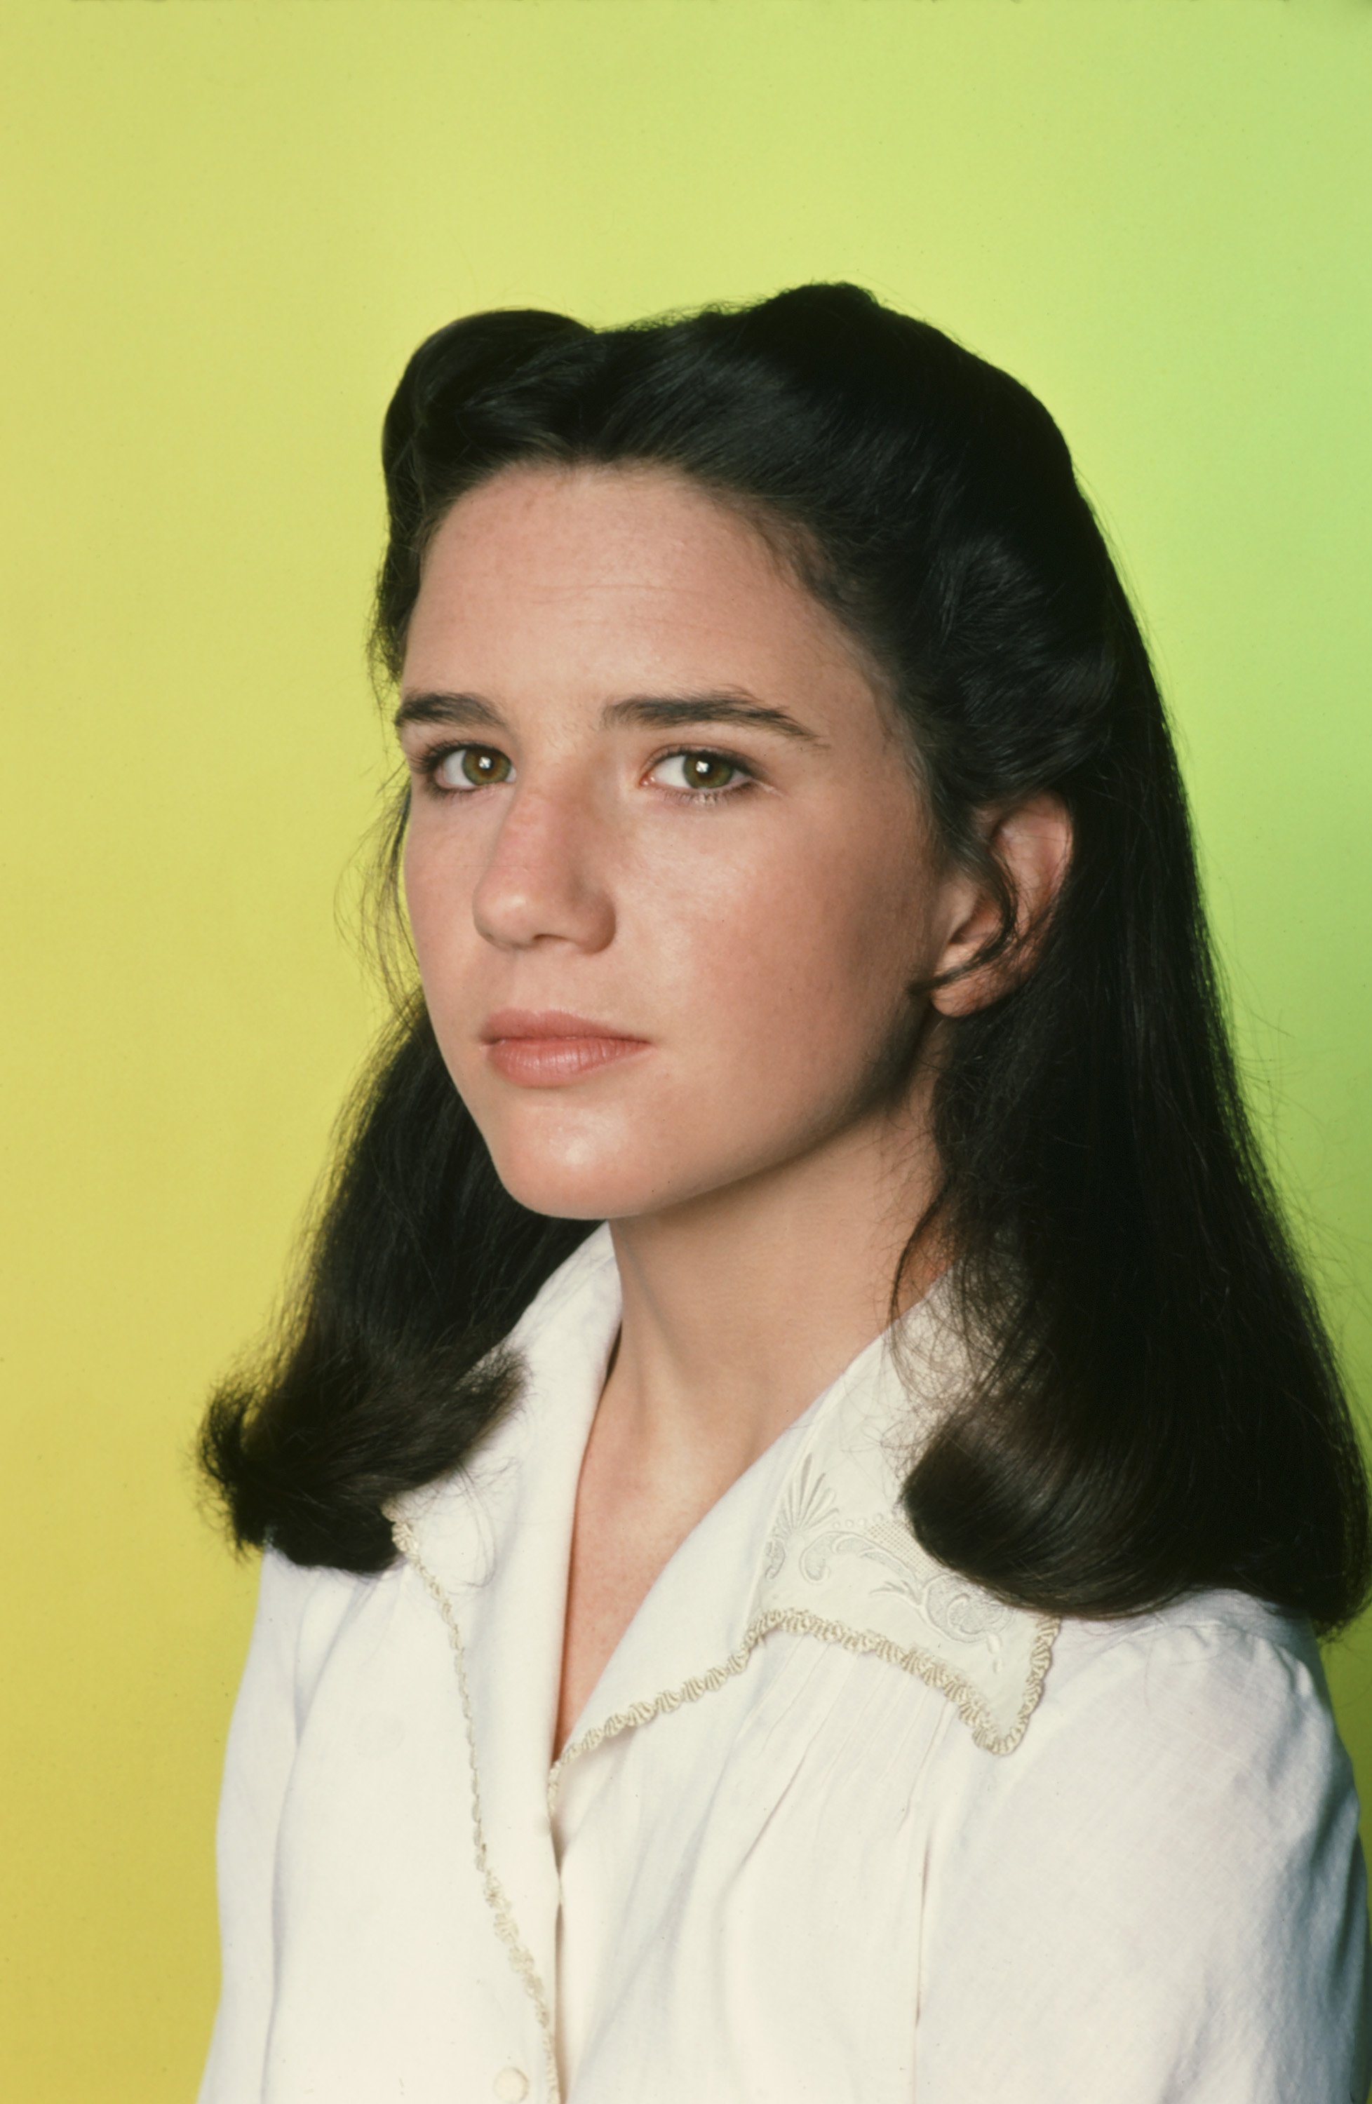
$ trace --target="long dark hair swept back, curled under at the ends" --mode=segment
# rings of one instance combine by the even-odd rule
[[[924,1546],[1044,1612],[1220,1584],[1347,1622],[1372,1555],[1353,1420],[1246,1117],[1149,656],[1044,406],[850,284],[604,330],[467,316],[385,417],[383,673],[436,526],[513,463],[657,463],[741,507],[880,673],[943,850],[1000,882],[1002,947],[978,814],[1069,812],[1031,968],[953,1018],[934,1081],[943,1185],[903,1275],[930,1235],[957,1254],[974,1351],[905,1485]],[[492,1347],[587,1231],[501,1189],[402,1006],[280,1342],[210,1403],[240,1542],[383,1567],[381,1500],[509,1403]]]

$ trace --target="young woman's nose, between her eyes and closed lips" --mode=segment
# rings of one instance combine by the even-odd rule
[[[516,789],[471,894],[478,934],[497,949],[604,949],[614,934],[606,850],[593,810],[570,785]]]

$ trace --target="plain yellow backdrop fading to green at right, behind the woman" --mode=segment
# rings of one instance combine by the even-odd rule
[[[11,0],[0,44],[0,2093],[181,2104],[255,1589],[187,1450],[375,1020],[335,890],[429,328],[844,276],[1044,396],[1366,1393],[1372,6]],[[1372,1641],[1330,1666],[1372,1803]]]

